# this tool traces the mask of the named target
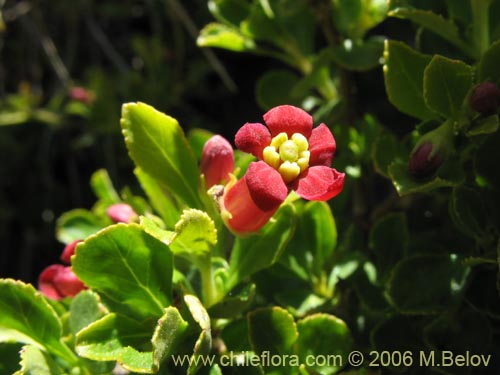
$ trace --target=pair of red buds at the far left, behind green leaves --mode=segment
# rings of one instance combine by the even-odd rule
[[[85,285],[71,269],[71,257],[75,253],[76,245],[79,242],[81,240],[66,245],[60,258],[64,264],[52,264],[40,274],[38,289],[47,297],[60,300],[65,297],[74,297],[86,289]]]

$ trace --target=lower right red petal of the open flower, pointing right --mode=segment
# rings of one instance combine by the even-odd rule
[[[344,187],[344,173],[322,165],[310,167],[297,181],[295,191],[310,201],[327,201]]]

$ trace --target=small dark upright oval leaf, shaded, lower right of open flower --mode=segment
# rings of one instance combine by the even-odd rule
[[[409,233],[405,214],[391,213],[379,219],[372,227],[369,243],[377,259],[378,279],[383,282],[407,255]]]

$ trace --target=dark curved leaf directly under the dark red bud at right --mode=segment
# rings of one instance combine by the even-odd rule
[[[447,160],[430,179],[420,180],[408,172],[408,164],[396,161],[389,166],[389,176],[400,196],[422,193],[442,187],[453,187],[461,184],[464,172],[456,160]]]

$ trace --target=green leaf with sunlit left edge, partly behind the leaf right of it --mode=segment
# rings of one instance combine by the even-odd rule
[[[410,116],[434,118],[423,96],[424,69],[431,57],[391,40],[385,43],[384,59],[385,89],[390,102]]]

